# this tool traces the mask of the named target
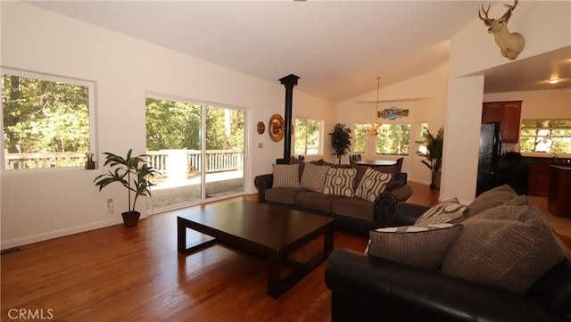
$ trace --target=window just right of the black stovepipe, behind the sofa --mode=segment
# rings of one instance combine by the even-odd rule
[[[322,120],[295,118],[295,154],[322,154]]]

